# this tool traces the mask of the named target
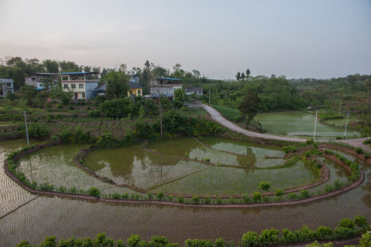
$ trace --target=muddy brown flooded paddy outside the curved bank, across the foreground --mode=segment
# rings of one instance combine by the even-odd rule
[[[2,149],[1,152],[5,151]],[[57,238],[72,235],[95,237],[101,232],[115,239],[125,239],[134,233],[143,239],[165,235],[171,242],[180,243],[187,238],[217,237],[237,242],[246,231],[261,231],[270,227],[291,230],[303,224],[311,228],[320,225],[334,227],[343,217],[352,218],[358,214],[365,215],[371,222],[371,170],[369,165],[362,165],[361,169],[365,172],[365,181],[356,189],[334,198],[291,207],[192,209],[38,197],[0,219],[0,246],[15,246],[23,239],[37,244],[49,235],[56,235]],[[0,185],[3,195],[4,185]],[[15,183],[11,187],[21,191],[19,194],[26,193]],[[15,196],[14,201],[19,202],[22,198]]]

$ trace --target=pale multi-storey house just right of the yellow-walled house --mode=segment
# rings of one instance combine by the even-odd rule
[[[152,97],[174,97],[174,91],[182,89],[182,79],[154,78],[149,82]]]

